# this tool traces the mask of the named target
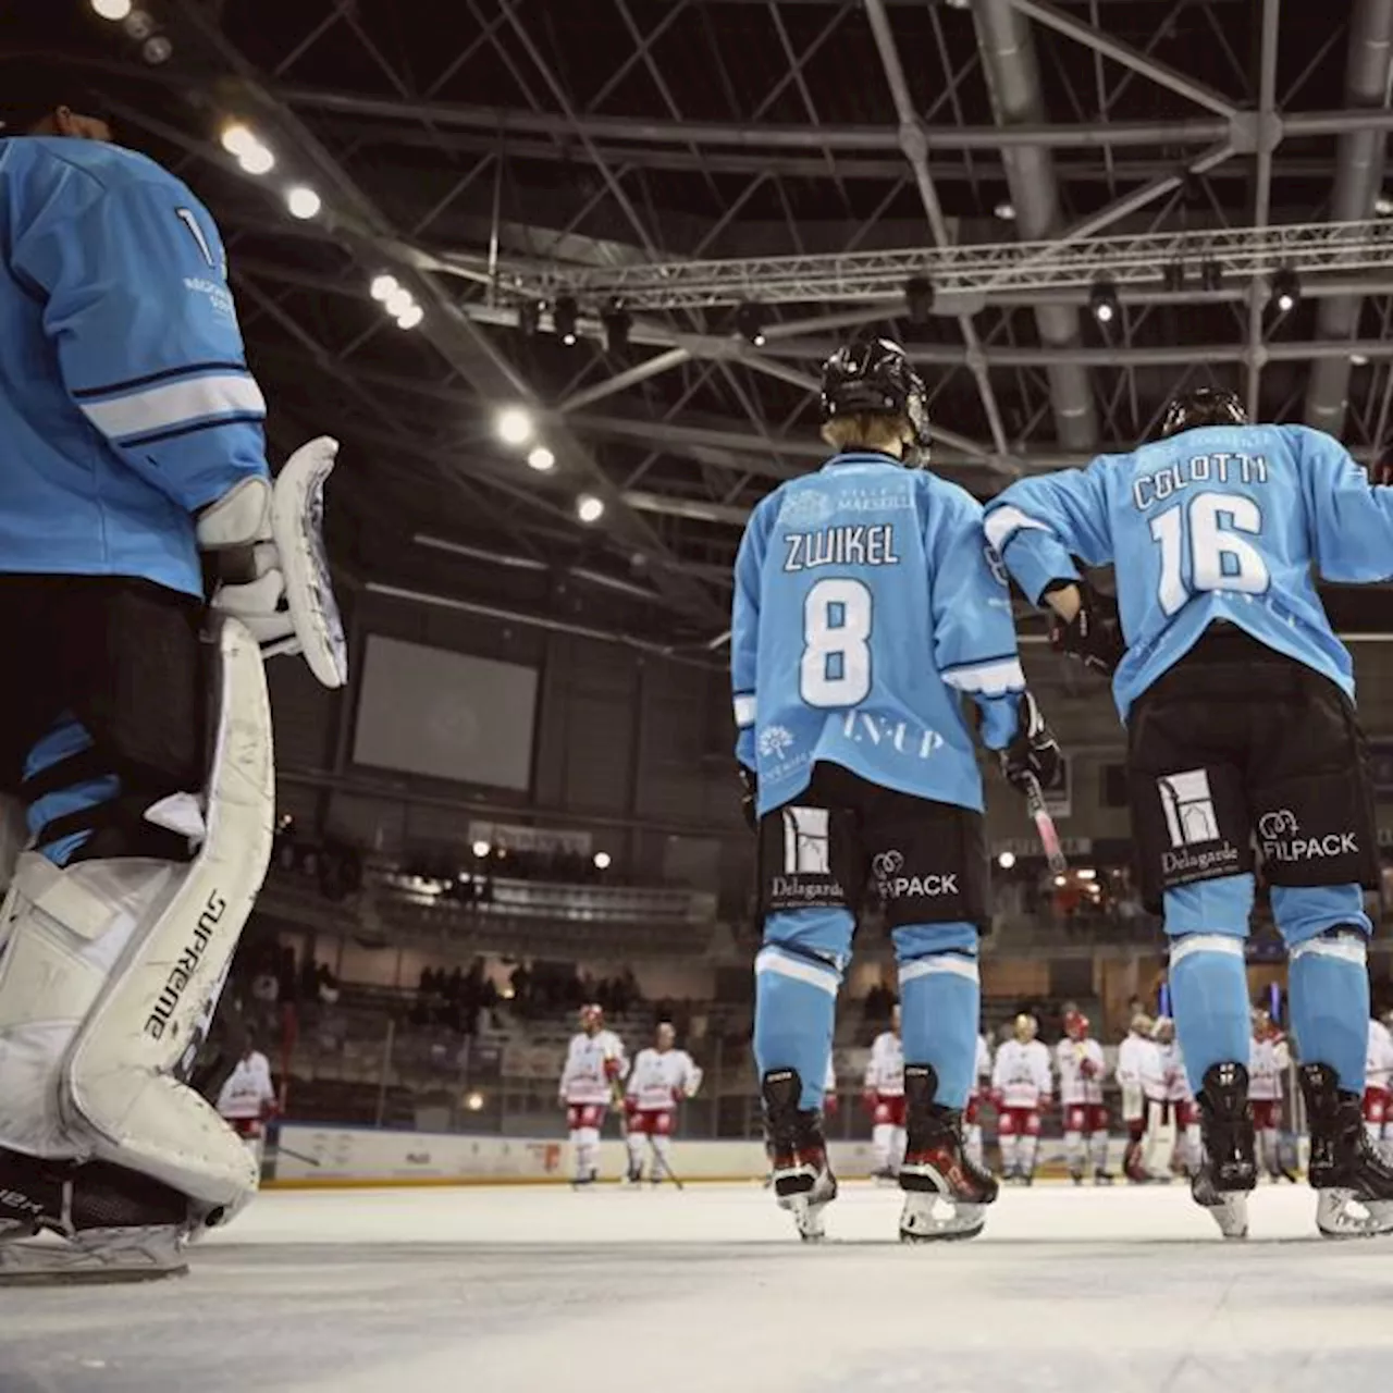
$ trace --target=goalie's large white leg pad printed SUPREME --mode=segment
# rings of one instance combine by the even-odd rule
[[[206,833],[188,864],[20,858],[0,957],[0,1145],[100,1158],[235,1211],[255,1166],[170,1077],[221,981],[270,862],[270,705],[237,621],[216,637],[220,702]]]

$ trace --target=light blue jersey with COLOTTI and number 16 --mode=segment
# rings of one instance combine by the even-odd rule
[[[1337,683],[1350,655],[1315,589],[1393,577],[1393,490],[1308,426],[1204,426],[1100,456],[1087,469],[1018,479],[992,500],[986,535],[1039,602],[1052,579],[1116,561],[1127,656],[1117,709],[1216,620]]]

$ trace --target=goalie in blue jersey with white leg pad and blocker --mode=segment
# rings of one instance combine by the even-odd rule
[[[263,655],[345,676],[333,442],[272,486],[217,227],[42,77],[0,102],[0,1283],[180,1270],[254,1194],[181,1078],[270,857]]]

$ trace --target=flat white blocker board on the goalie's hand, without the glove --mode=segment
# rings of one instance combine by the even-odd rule
[[[272,535],[295,637],[266,656],[304,653],[325,687],[343,687],[348,680],[348,645],[325,556],[325,481],[337,457],[338,442],[329,436],[302,444],[276,476],[272,495]]]

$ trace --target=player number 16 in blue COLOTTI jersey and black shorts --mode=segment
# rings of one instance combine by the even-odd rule
[[[1361,886],[1378,882],[1376,830],[1350,656],[1315,573],[1393,575],[1393,490],[1372,488],[1328,435],[1250,425],[1227,391],[1177,398],[1160,435],[1013,483],[986,532],[1025,593],[1055,612],[1059,646],[1113,673],[1145,897],[1165,912],[1201,1109],[1194,1198],[1226,1236],[1247,1233],[1256,1166],[1243,940],[1256,843],[1290,953],[1316,1223],[1330,1236],[1386,1231],[1393,1166],[1360,1126]],[[1117,606],[1073,557],[1116,563]]]

